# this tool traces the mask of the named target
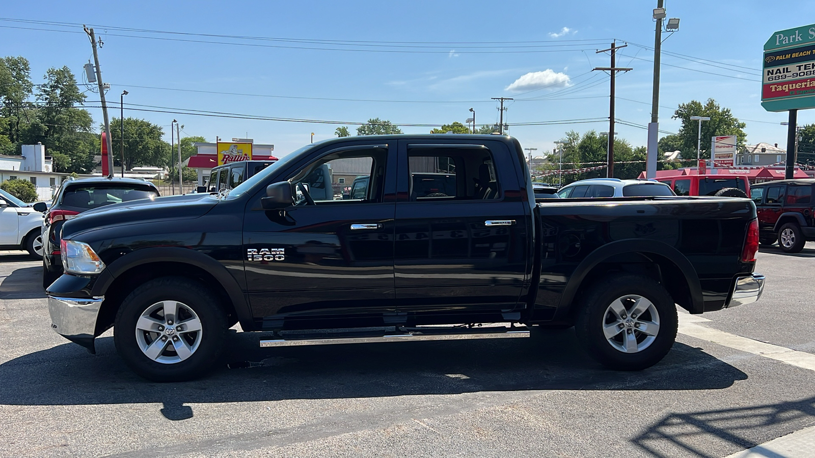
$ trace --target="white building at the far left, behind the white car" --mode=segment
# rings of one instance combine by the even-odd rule
[[[54,192],[69,174],[54,172],[51,156],[41,143],[23,145],[22,156],[0,155],[0,183],[10,179],[24,179],[37,187],[41,200],[51,200]]]

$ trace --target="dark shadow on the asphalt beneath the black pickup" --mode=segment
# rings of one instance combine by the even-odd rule
[[[170,420],[192,417],[185,403],[379,398],[524,390],[715,390],[747,375],[702,350],[676,343],[654,368],[615,372],[578,348],[575,333],[528,338],[258,347],[234,333],[229,363],[198,381],[154,383],[134,375],[112,337],[97,355],[66,343],[0,364],[0,404],[164,403]]]

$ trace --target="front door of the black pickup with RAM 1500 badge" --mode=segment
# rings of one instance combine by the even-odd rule
[[[260,208],[260,196],[249,201],[244,265],[253,315],[381,319],[394,311],[395,204],[388,187],[395,184],[386,174],[395,161],[389,154],[387,145],[318,150],[286,177],[296,190],[292,208],[280,214]],[[343,199],[338,178],[357,176],[369,177],[367,192]]]

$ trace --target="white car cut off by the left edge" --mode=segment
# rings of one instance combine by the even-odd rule
[[[22,249],[42,258],[42,213],[0,189],[0,249]]]

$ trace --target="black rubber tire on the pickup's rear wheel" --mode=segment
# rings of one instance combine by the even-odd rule
[[[636,310],[637,304],[647,305],[647,302],[631,302],[633,297],[645,298],[653,305],[653,309],[649,307],[641,312],[639,317],[628,316],[628,312]],[[615,312],[609,311],[612,303],[619,299],[623,300],[620,302],[621,305],[623,302],[631,303],[630,306],[625,306],[628,312],[619,314],[626,317],[621,320],[615,318],[617,316]],[[678,327],[676,305],[665,288],[648,277],[631,274],[611,275],[588,288],[588,292],[578,305],[580,309],[575,332],[580,345],[607,368],[621,371],[650,368],[667,355],[676,340]],[[617,330],[619,325],[623,328],[619,328],[619,333],[614,337],[607,338],[604,328],[618,321],[619,324],[609,327],[610,332]],[[659,324],[656,327],[657,332],[654,332],[655,336],[649,336],[641,330],[654,328],[654,323]],[[621,348],[626,346],[629,335],[634,339],[632,348],[635,351],[627,353]],[[618,338],[621,343],[616,340]]]

